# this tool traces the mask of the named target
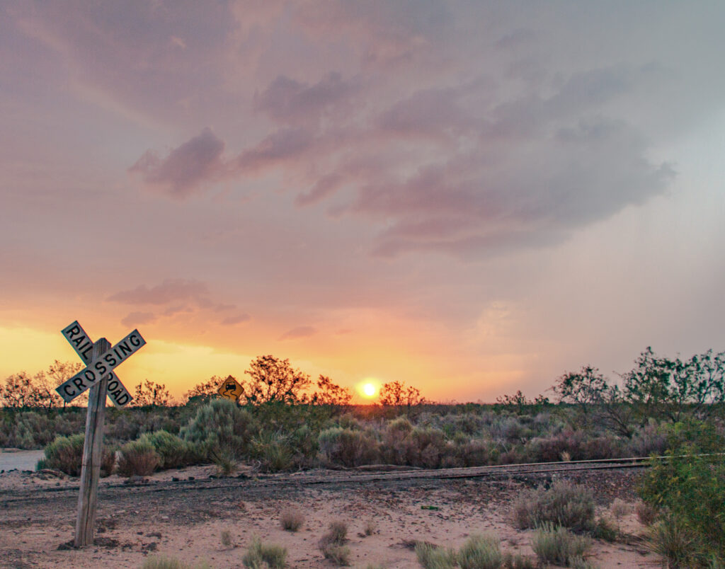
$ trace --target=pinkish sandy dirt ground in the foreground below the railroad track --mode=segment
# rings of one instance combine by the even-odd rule
[[[313,473],[319,480],[320,473]],[[321,473],[324,477],[324,473]],[[335,473],[339,477],[339,473]],[[597,512],[608,515],[615,497],[634,503],[637,474],[626,470],[573,474],[595,489]],[[75,525],[78,479],[49,471],[0,474],[0,567],[140,568],[146,557],[163,555],[212,568],[241,568],[253,536],[286,547],[289,568],[332,568],[318,549],[331,520],[347,523],[351,565],[419,568],[413,540],[458,547],[475,533],[495,533],[502,548],[534,557],[531,531],[507,521],[510,503],[542,478],[418,479],[365,483],[309,483],[302,475],[217,478],[213,467],[158,473],[125,483],[101,479],[96,545],[67,549]],[[191,479],[190,479],[191,478]],[[127,482],[127,481],[126,481]],[[437,510],[423,507],[436,507]],[[284,531],[280,512],[295,507],[305,516],[296,533]],[[365,528],[374,528],[366,536]],[[600,568],[655,568],[644,528],[634,514],[619,521],[627,543],[595,540],[590,560]],[[231,545],[222,544],[222,533]]]

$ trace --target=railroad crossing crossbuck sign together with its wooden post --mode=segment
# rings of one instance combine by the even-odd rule
[[[78,494],[78,517],[75,520],[75,547],[93,544],[96,524],[96,501],[98,481],[103,460],[103,420],[106,409],[106,395],[117,407],[128,404],[132,397],[113,368],[128,359],[146,344],[146,340],[134,330],[115,346],[101,338],[91,341],[78,321],[62,330],[83,363],[88,364],[72,378],[56,389],[65,402],[71,402],[86,389],[88,414],[86,415],[86,439],[83,442],[83,461],[80,467],[80,493]]]

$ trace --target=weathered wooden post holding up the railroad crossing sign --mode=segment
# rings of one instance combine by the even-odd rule
[[[98,360],[111,347],[109,341],[101,338],[94,344],[93,360]],[[83,443],[83,462],[80,466],[80,494],[78,494],[78,518],[75,520],[75,547],[93,544],[96,526],[96,499],[98,480],[103,460],[103,420],[106,410],[108,376],[91,387],[88,394],[86,415],[86,440]]]

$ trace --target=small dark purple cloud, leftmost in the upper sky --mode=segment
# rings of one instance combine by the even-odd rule
[[[210,128],[204,128],[163,159],[154,151],[146,151],[128,171],[140,174],[146,184],[158,186],[165,194],[183,199],[205,181],[221,175],[223,151],[223,141]]]

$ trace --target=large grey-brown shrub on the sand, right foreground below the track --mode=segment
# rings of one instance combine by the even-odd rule
[[[594,523],[592,492],[566,481],[555,482],[549,490],[523,491],[513,503],[512,523],[517,528],[534,528],[542,523],[586,530]]]

